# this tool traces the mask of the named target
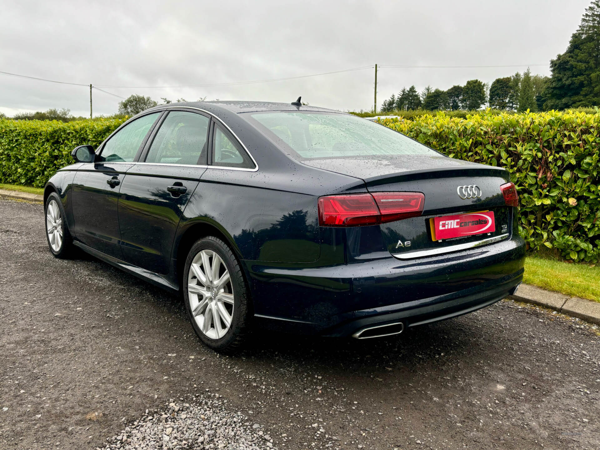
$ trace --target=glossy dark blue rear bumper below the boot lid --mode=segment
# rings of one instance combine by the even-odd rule
[[[347,336],[367,326],[416,326],[491,305],[521,283],[524,256],[523,240],[513,237],[407,261],[390,256],[321,268],[245,263],[257,325]]]

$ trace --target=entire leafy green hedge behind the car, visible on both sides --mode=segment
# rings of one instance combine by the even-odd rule
[[[0,119],[0,183],[43,187],[73,163],[77,145],[98,146],[125,119]],[[384,125],[452,158],[502,166],[520,195],[520,233],[575,261],[600,259],[600,114],[482,112],[466,118],[425,113]]]

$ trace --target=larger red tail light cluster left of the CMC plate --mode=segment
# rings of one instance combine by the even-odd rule
[[[419,192],[386,192],[320,197],[319,225],[355,227],[421,215],[425,196]]]

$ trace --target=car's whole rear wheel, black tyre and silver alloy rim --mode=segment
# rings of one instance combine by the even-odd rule
[[[183,290],[200,340],[219,352],[238,349],[248,328],[248,293],[242,269],[227,244],[208,236],[191,247]]]

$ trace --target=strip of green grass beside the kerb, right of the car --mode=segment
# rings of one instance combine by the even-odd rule
[[[523,282],[600,302],[600,266],[528,256]]]

